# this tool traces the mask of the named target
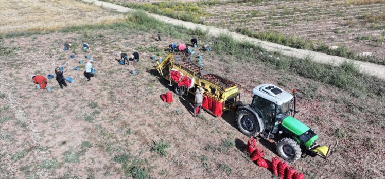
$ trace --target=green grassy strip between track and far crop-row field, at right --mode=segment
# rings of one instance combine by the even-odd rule
[[[303,39],[295,37],[295,35],[288,36],[283,33],[274,31],[255,32],[248,28],[238,27],[236,32],[249,37],[274,42],[277,44],[289,46],[298,49],[308,49],[312,51],[318,51],[326,53],[328,55],[345,57],[351,60],[358,60],[363,62],[371,62],[379,65],[385,65],[385,60],[381,60],[376,56],[360,56],[354,50],[349,49],[345,46],[339,46],[337,49],[329,49],[329,46],[324,43],[316,43],[310,39]]]

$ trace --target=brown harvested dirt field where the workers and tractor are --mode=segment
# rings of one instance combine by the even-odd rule
[[[147,173],[152,178],[273,178],[243,153],[248,138],[236,129],[234,113],[215,118],[204,112],[203,118],[193,118],[193,96],[174,94],[173,103],[162,102],[159,95],[168,90],[168,83],[156,76],[150,57],[165,57],[168,44],[182,41],[164,35],[156,42],[154,37],[125,29],[4,39],[0,177],[121,178]],[[64,42],[78,47],[63,51]],[[83,42],[91,44],[90,51],[81,51]],[[117,52],[134,50],[141,53],[136,67],[115,60]],[[69,58],[72,53],[75,59]],[[86,54],[95,59],[97,71],[90,82],[83,69],[73,70]],[[321,144],[340,140],[337,152],[326,161],[305,157],[289,164],[306,178],[385,175],[384,99],[356,99],[336,87],[258,61],[208,53],[204,63],[240,83],[246,103],[251,89],[261,83],[299,89],[301,113],[296,117],[317,132]],[[64,66],[64,76],[73,77],[75,83],[60,89],[51,79],[53,92],[33,87],[33,75],[53,74],[56,66]],[[137,75],[130,74],[134,68]],[[266,158],[274,156],[275,146],[261,142],[258,146],[265,149]]]

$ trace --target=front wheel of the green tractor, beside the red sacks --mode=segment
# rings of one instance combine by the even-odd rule
[[[283,138],[277,143],[277,153],[281,158],[288,162],[293,162],[301,158],[300,145],[291,138]]]

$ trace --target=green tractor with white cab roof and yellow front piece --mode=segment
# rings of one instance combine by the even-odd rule
[[[294,118],[298,113],[295,89],[293,97],[275,85],[262,84],[253,89],[253,95],[251,104],[237,109],[237,124],[243,134],[277,141],[278,155],[288,162],[300,159],[302,153],[328,157],[330,146],[318,145],[318,135]],[[291,109],[293,98],[294,109]]]

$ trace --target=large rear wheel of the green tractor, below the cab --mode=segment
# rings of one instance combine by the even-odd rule
[[[259,123],[254,114],[249,110],[242,109],[237,115],[237,125],[244,135],[254,136],[256,132],[259,132]]]

